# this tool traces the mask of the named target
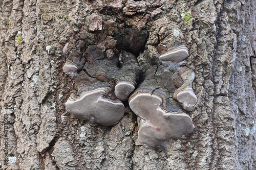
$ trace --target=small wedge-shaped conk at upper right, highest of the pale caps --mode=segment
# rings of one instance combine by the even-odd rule
[[[187,47],[184,44],[177,44],[169,47],[167,52],[159,57],[161,62],[181,62],[189,56]]]

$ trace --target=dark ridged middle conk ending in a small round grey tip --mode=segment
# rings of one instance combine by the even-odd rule
[[[129,94],[135,89],[139,79],[140,67],[136,57],[125,51],[121,52],[121,67],[117,67],[118,58],[104,57],[104,53],[95,45],[90,45],[87,49],[87,63],[84,69],[91,77],[96,77],[102,82],[112,82],[115,84],[115,95],[122,101],[127,100]]]

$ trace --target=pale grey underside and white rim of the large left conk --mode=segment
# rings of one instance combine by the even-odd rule
[[[124,105],[117,100],[105,98],[109,91],[99,88],[85,91],[79,96],[71,95],[65,103],[68,112],[83,120],[111,126],[119,122],[124,114]]]

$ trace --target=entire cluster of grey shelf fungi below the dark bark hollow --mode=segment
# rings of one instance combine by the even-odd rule
[[[80,48],[86,48],[87,35],[82,33],[79,39]],[[107,57],[96,45],[89,45],[84,53],[70,52],[68,45],[63,47],[67,57],[63,72],[75,78],[75,91],[65,104],[68,112],[111,126],[123,117],[122,102],[129,100],[138,116],[138,139],[146,148],[162,147],[194,130],[184,110],[193,111],[197,103],[192,89],[195,74],[185,66],[189,54],[183,43],[159,44],[159,56],[143,68],[135,55],[124,50]]]

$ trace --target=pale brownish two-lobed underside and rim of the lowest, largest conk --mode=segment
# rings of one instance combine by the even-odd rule
[[[163,99],[151,92],[137,92],[130,100],[131,109],[141,117],[139,122],[139,141],[146,148],[161,147],[164,143],[178,139],[194,130],[187,114],[163,109]]]

